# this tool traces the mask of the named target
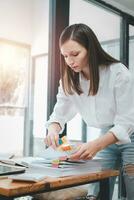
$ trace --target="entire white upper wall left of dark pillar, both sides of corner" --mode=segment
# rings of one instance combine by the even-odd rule
[[[0,38],[32,45],[32,54],[48,52],[49,0],[0,0]]]

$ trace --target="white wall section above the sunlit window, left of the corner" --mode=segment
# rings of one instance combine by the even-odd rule
[[[32,0],[0,0],[0,37],[31,43]]]

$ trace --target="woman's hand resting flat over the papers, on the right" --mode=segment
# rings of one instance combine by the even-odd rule
[[[78,145],[78,148],[74,154],[72,154],[69,159],[72,160],[90,160],[92,159],[98,151],[101,150],[99,143],[94,140],[87,143],[82,143]]]

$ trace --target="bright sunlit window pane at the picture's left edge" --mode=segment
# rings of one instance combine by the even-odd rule
[[[30,49],[0,40],[0,152],[23,153]]]

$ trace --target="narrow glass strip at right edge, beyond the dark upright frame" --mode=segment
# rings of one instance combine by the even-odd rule
[[[129,69],[134,77],[134,26],[129,25]]]

